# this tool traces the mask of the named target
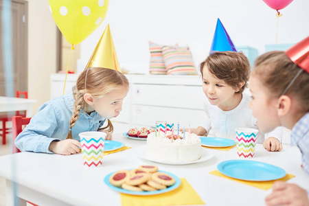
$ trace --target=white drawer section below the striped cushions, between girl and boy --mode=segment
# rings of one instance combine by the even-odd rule
[[[131,125],[155,126],[169,121],[197,127],[203,111],[202,80],[199,76],[132,76]]]

